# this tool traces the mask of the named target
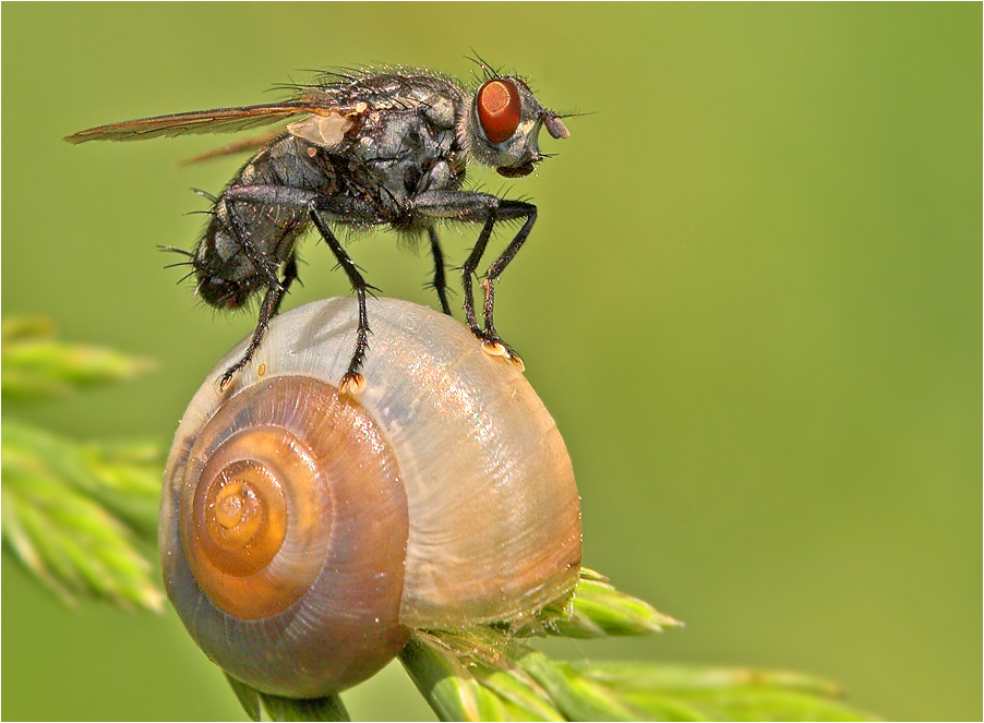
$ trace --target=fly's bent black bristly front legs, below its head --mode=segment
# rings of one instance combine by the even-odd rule
[[[516,256],[529,236],[530,229],[537,220],[537,207],[521,201],[507,201],[488,193],[471,191],[429,191],[413,198],[416,210],[424,216],[434,218],[453,218],[460,221],[482,222],[475,248],[461,266],[461,286],[465,290],[465,318],[471,333],[482,340],[482,348],[491,354],[503,356],[514,362],[520,369],[523,360],[508,345],[506,345],[495,330],[493,311],[495,304],[495,281],[505,267]],[[482,312],[484,328],[479,327],[475,316],[475,299],[472,293],[472,276],[481,263],[492,229],[496,221],[514,218],[525,218],[519,232],[513,238],[505,251],[495,260],[484,274],[482,289],[484,303]]]

